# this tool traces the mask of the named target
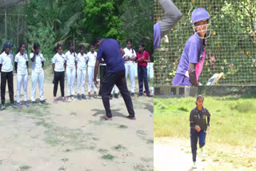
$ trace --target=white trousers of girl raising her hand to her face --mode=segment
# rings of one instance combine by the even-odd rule
[[[31,101],[35,101],[37,85],[39,85],[40,101],[45,100],[45,97],[43,95],[43,85],[45,82],[45,74],[43,70],[40,73],[36,73],[32,71],[31,80],[32,80]]]

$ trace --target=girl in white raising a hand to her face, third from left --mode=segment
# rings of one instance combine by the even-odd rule
[[[36,91],[37,85],[39,85],[39,94],[40,94],[40,102],[42,104],[46,104],[43,86],[45,82],[45,74],[43,70],[45,58],[40,53],[40,45],[38,43],[34,43],[32,52],[30,53],[30,60],[32,62],[32,92],[31,92],[31,101],[32,105],[36,104]]]

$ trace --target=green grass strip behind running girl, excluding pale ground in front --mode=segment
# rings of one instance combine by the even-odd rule
[[[194,97],[154,98],[154,137],[190,137],[190,110]],[[211,113],[207,141],[228,145],[255,144],[256,99],[205,97],[204,106]]]

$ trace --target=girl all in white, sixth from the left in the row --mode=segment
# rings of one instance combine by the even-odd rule
[[[87,70],[87,57],[85,54],[86,47],[81,45],[79,46],[80,53],[78,54],[78,57],[76,59],[77,62],[77,74],[78,74],[78,80],[77,80],[77,93],[78,93],[78,100],[86,100],[85,95],[85,86],[86,86],[86,70]],[[80,94],[82,93],[82,96]]]

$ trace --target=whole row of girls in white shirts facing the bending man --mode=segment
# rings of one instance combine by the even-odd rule
[[[137,55],[132,47],[132,41],[128,39],[126,41],[126,48],[124,49],[125,54],[123,56],[126,67],[126,78],[130,77],[130,94],[134,96],[135,93],[135,70],[136,70],[136,59]],[[32,72],[31,72],[31,104],[36,104],[36,90],[39,88],[39,98],[42,104],[46,104],[44,97],[44,62],[45,58],[40,53],[40,45],[34,43],[33,49],[28,57],[25,53],[26,45],[24,43],[20,44],[18,47],[15,58],[10,54],[12,44],[6,42],[0,54],[0,71],[1,71],[1,109],[5,109],[5,93],[6,93],[6,83],[8,84],[8,90],[10,95],[10,105],[13,108],[22,107],[22,105],[29,106],[28,97],[27,97],[27,85],[28,85],[28,68],[29,61],[32,63]],[[94,85],[94,66],[97,58],[97,52],[95,51],[94,46],[90,46],[90,52],[85,53],[85,46],[79,46],[79,53],[76,54],[74,51],[74,44],[69,44],[69,50],[66,54],[63,54],[62,45],[57,46],[57,53],[54,55],[54,58],[51,59],[52,68],[54,71],[54,103],[58,103],[57,92],[58,92],[58,83],[61,89],[62,101],[76,101],[86,100],[91,97],[98,98],[101,96],[100,89],[99,95],[97,95],[98,89]],[[17,73],[17,92],[16,92],[16,105],[14,104],[14,82],[13,82],[13,63],[14,70]],[[101,66],[106,67],[104,62],[101,63]],[[67,99],[65,97],[65,70],[66,70],[66,93]],[[106,72],[106,70],[101,70]],[[88,74],[88,96],[85,95],[86,87],[86,74]],[[101,79],[105,74],[101,74]],[[77,98],[74,97],[74,84],[77,80]],[[24,102],[21,102],[21,90],[23,89]],[[94,95],[91,95],[91,90],[94,92]],[[118,98],[118,88],[114,86],[110,98]]]

